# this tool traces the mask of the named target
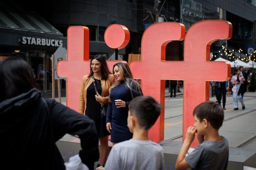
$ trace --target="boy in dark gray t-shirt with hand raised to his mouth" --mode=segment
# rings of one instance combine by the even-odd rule
[[[224,111],[218,103],[207,101],[198,105],[193,112],[195,127],[188,127],[186,138],[176,161],[176,170],[207,169],[226,170],[228,163],[228,142],[219,135],[222,126]],[[195,133],[199,145],[185,157]]]

